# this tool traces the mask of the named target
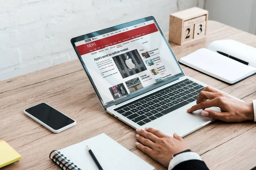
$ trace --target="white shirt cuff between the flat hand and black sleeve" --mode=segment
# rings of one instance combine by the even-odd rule
[[[202,161],[201,157],[198,153],[195,152],[184,152],[176,155],[169,163],[168,170],[172,170],[177,164],[180,164],[183,161],[189,160],[200,160]]]

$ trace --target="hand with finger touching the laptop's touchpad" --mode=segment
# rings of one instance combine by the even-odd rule
[[[189,108],[187,112],[191,113],[199,109],[204,110],[205,108],[219,107],[221,108],[221,113],[212,110],[204,110],[202,111],[202,115],[224,122],[242,122],[254,119],[252,103],[241,102],[210,86],[207,86],[199,93],[196,103],[197,105]]]

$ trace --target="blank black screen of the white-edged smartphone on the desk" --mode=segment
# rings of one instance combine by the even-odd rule
[[[45,103],[40,103],[25,111],[39,119],[41,122],[44,122],[49,127],[52,127],[54,130],[58,130],[75,122]]]

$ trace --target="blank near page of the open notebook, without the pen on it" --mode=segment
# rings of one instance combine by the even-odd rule
[[[229,83],[256,72],[256,68],[250,65],[242,64],[206,48],[181,58],[180,62]]]

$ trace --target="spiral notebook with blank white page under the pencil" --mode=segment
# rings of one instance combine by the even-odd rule
[[[99,170],[87,150],[87,145],[103,170],[154,170],[154,167],[105,133],[61,150],[53,150],[49,157],[63,170]]]

